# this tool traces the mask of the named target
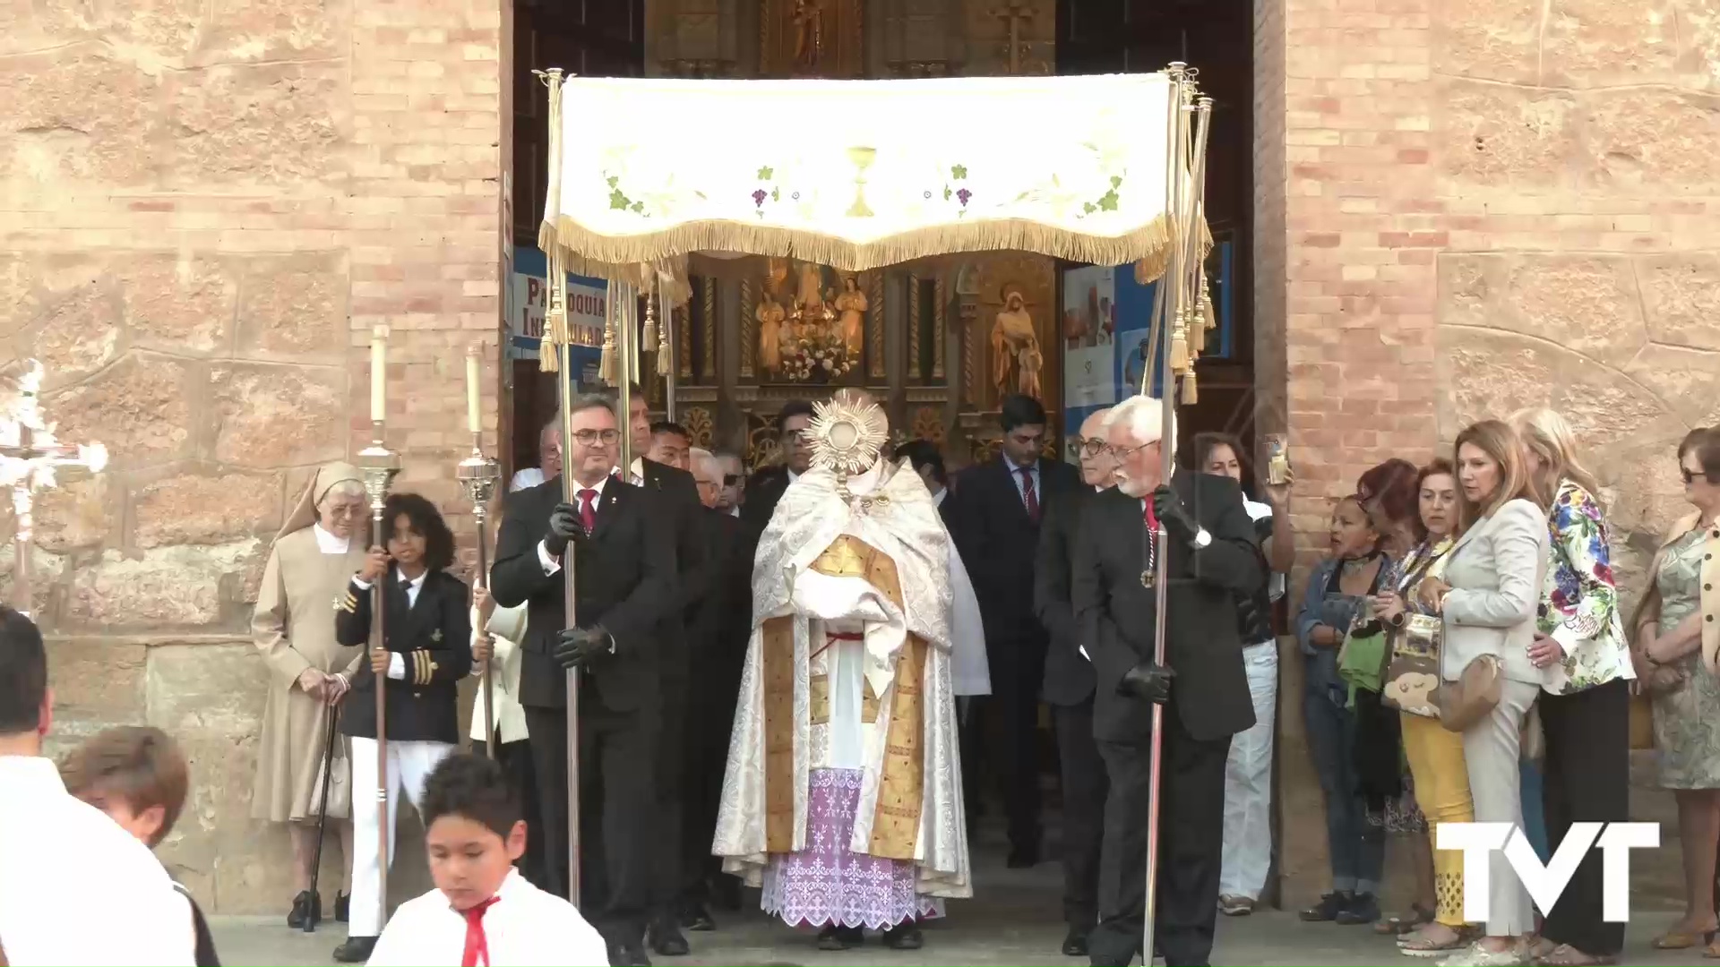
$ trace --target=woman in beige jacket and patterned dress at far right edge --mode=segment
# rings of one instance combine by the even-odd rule
[[[1715,845],[1720,840],[1720,594],[1711,594],[1720,570],[1720,432],[1691,430],[1679,444],[1684,499],[1696,509],[1679,520],[1648,573],[1653,582],[1631,628],[1639,688],[1655,707],[1655,750],[1660,785],[1679,804],[1679,845],[1684,850],[1686,914],[1655,946],[1677,950],[1715,943]],[[1706,618],[1706,619],[1705,619]]]

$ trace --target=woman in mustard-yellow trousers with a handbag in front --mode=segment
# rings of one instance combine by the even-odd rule
[[[1391,628],[1391,664],[1386,669],[1385,700],[1400,714],[1404,757],[1416,783],[1416,802],[1428,817],[1429,840],[1441,822],[1472,822],[1469,769],[1464,736],[1440,726],[1433,688],[1440,681],[1438,614],[1417,604],[1424,580],[1441,580],[1457,542],[1457,473],[1452,461],[1434,459],[1416,477],[1421,542],[1405,554],[1400,575],[1376,599],[1381,619]],[[1440,957],[1462,950],[1471,939],[1464,919],[1464,857],[1452,850],[1433,853],[1436,908],[1429,924],[1398,938],[1398,950],[1410,957]]]

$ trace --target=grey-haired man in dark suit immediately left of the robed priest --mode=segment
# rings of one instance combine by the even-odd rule
[[[693,480],[698,482],[697,518],[703,561],[686,580],[695,604],[686,613],[686,637],[691,642],[686,697],[686,761],[683,767],[685,812],[681,824],[681,924],[693,931],[716,929],[709,896],[712,883],[740,883],[722,874],[710,855],[717,829],[717,805],[722,798],[722,773],[728,766],[729,731],[734,702],[746,662],[746,638],[752,631],[752,544],[745,523],[717,509],[724,487],[724,468],[707,451],[691,453]],[[722,878],[722,879],[719,879]]]

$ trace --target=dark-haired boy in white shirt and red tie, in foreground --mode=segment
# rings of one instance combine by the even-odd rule
[[[401,903],[370,967],[607,967],[604,938],[514,869],[526,824],[502,767],[442,759],[425,781],[425,848],[437,888]]]

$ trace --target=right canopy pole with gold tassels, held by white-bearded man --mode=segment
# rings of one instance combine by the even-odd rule
[[[1180,225],[1170,244],[1170,262],[1164,275],[1154,286],[1152,323],[1149,334],[1149,360],[1142,366],[1140,392],[1152,380],[1152,363],[1159,370],[1159,466],[1161,482],[1170,484],[1176,471],[1173,437],[1176,432],[1176,401],[1194,403],[1194,358],[1206,344],[1207,296],[1202,267],[1202,237],[1206,222],[1201,219],[1201,194],[1206,179],[1206,138],[1213,115],[1213,98],[1195,100],[1195,72],[1182,62],[1168,71],[1170,93],[1170,167],[1166,179],[1166,210],[1170,222]],[[1158,356],[1161,334],[1170,341]],[[1192,342],[1192,346],[1190,346]],[[1190,351],[1192,349],[1192,351]],[[1151,497],[1149,497],[1151,499]],[[1142,571],[1142,583],[1152,588],[1152,662],[1164,666],[1166,609],[1170,606],[1170,539],[1159,523],[1144,540],[1152,542],[1147,557],[1151,571]],[[1159,900],[1159,790],[1164,767],[1164,705],[1152,704],[1152,735],[1147,759],[1147,890],[1142,917],[1140,958],[1152,964],[1152,933]]]

